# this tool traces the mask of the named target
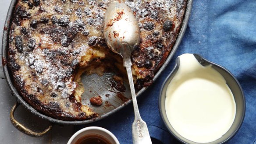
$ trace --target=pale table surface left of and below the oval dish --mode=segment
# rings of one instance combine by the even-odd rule
[[[2,46],[4,22],[10,3],[11,0],[0,0],[0,46]],[[74,126],[60,125],[53,125],[52,130],[43,137],[30,137],[21,133],[9,119],[11,107],[15,102],[4,78],[2,59],[0,59],[0,144],[66,144],[74,133]],[[18,106],[14,116],[20,123],[35,131],[44,130],[49,124],[48,121],[32,115],[21,105]]]

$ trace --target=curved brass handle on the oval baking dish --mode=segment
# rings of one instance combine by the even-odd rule
[[[10,120],[11,120],[11,123],[13,124],[13,126],[15,128],[17,128],[18,130],[20,130],[22,133],[25,133],[29,136],[32,136],[32,137],[41,137],[43,136],[44,134],[46,134],[47,132],[49,132],[52,128],[52,125],[50,125],[48,128],[46,128],[44,131],[42,132],[34,132],[30,129],[28,129],[27,127],[23,126],[21,123],[19,123],[15,118],[14,118],[14,111],[15,109],[18,107],[18,105],[20,105],[18,102],[16,102],[14,104],[14,106],[11,108],[11,112],[10,112]]]

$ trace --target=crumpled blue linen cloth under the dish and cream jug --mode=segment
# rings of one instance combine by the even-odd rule
[[[178,143],[167,132],[158,109],[158,97],[164,79],[183,53],[198,53],[227,68],[242,85],[246,114],[238,133],[228,144],[256,144],[256,1],[194,0],[183,40],[171,63],[147,91],[138,98],[142,119],[151,137],[164,144]],[[132,144],[132,103],[121,111],[88,125],[110,130],[121,144]]]

